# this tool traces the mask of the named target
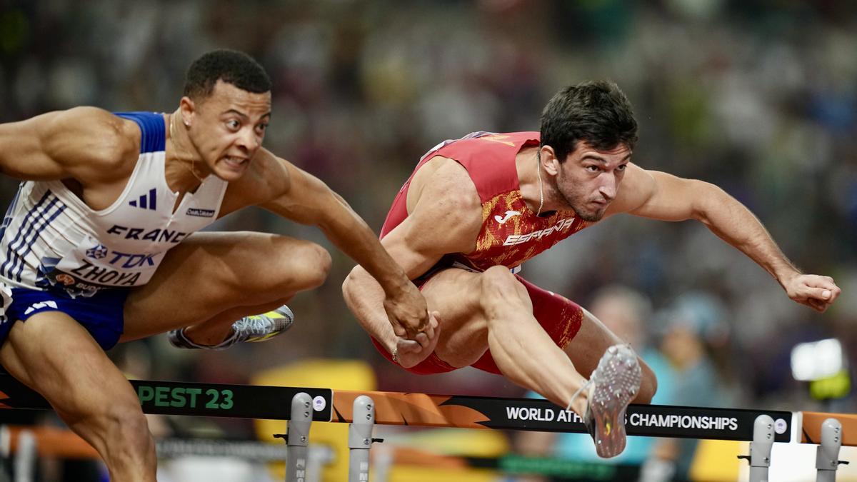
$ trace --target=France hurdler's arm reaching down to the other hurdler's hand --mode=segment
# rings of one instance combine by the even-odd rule
[[[363,266],[383,287],[383,306],[391,322],[415,334],[428,326],[423,295],[381,246],[375,232],[327,184],[285,160],[289,186],[285,194],[261,204],[274,213],[306,225],[318,226],[325,236]]]

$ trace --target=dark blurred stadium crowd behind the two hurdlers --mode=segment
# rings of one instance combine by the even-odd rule
[[[637,113],[636,163],[719,184],[796,265],[834,276],[842,297],[819,316],[704,226],[631,217],[557,245],[524,277],[584,306],[602,286],[632,287],[650,300],[653,346],[682,294],[714,300],[718,319],[693,326],[739,407],[818,407],[789,371],[797,342],[835,336],[857,365],[857,3],[0,0],[0,121],[75,105],[172,111],[183,70],[217,47],[247,51],[273,78],[265,146],[325,180],[376,231],[437,142],[538,130],[560,87],[612,79]],[[0,178],[0,204],[15,186]],[[329,246],[263,211],[216,228]],[[360,358],[380,389],[523,395],[476,371],[427,378],[385,363],[342,301],[351,261],[330,250],[327,284],[295,298],[285,336],[227,352],[155,339],[117,358],[144,377],[223,383],[306,358]],[[836,403],[857,410],[851,397]],[[234,424],[225,430],[247,430]]]

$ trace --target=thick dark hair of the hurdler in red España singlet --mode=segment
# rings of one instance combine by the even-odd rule
[[[637,143],[637,121],[631,103],[612,81],[587,81],[565,87],[542,111],[542,146],[554,148],[565,162],[568,154],[585,141],[593,148],[608,150]]]

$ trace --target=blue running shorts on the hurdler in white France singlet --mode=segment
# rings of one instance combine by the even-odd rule
[[[102,349],[109,350],[123,333],[128,293],[129,288],[111,288],[92,297],[71,298],[65,292],[15,288],[0,282],[0,346],[16,321],[26,322],[43,311],[62,311],[87,328]]]

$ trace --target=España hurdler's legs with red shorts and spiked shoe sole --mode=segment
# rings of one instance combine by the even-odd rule
[[[590,429],[598,455],[620,454],[626,443],[628,404],[635,396],[649,401],[655,390],[646,367],[647,393],[640,394],[641,365],[630,346],[622,346],[577,304],[518,279],[504,267],[470,275],[455,271],[435,275],[423,286],[429,309],[440,311],[441,323],[452,314],[452,322],[441,324],[435,353],[452,366],[499,371],[560,407],[570,407]],[[453,302],[448,311],[432,305],[462,296],[468,301]],[[478,359],[473,359],[473,346],[482,350]],[[574,357],[560,346],[572,346],[568,352]]]

